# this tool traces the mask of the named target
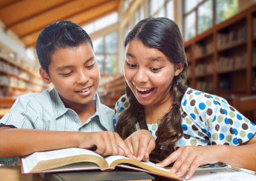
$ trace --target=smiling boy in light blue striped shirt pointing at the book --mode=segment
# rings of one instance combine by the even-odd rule
[[[36,52],[40,75],[54,88],[19,96],[0,120],[0,163],[70,147],[136,159],[112,132],[113,111],[97,95],[100,73],[89,35],[73,22],[55,22],[38,36]]]

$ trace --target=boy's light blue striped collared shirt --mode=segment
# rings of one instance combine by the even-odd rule
[[[112,131],[114,111],[101,104],[98,94],[94,95],[96,112],[81,124],[77,113],[66,108],[55,88],[42,93],[20,95],[11,107],[10,113],[0,120],[0,126],[56,131]],[[0,157],[0,164],[13,164],[17,158]]]

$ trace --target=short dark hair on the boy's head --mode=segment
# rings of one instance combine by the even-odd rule
[[[72,49],[88,42],[92,46],[90,36],[74,22],[58,21],[49,24],[36,40],[36,53],[41,67],[49,75],[49,64],[56,50]]]

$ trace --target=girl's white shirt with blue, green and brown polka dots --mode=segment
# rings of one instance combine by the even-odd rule
[[[181,104],[184,135],[175,143],[176,150],[180,146],[216,144],[236,146],[250,140],[256,132],[255,124],[230,106],[222,97],[188,88]],[[120,97],[115,106],[114,124],[128,106],[126,95]],[[147,124],[147,126],[156,139],[155,132],[158,124]],[[140,129],[139,124],[136,124],[136,127]]]

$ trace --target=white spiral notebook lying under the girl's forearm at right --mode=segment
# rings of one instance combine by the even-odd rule
[[[184,179],[184,178],[183,178]],[[226,165],[218,168],[198,168],[190,181],[256,181],[256,172]]]

